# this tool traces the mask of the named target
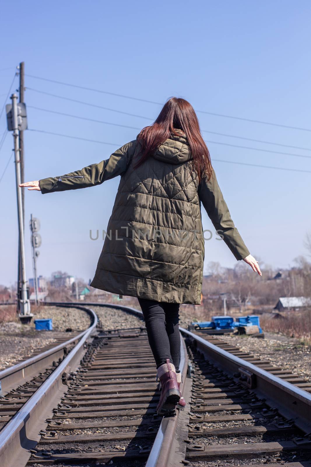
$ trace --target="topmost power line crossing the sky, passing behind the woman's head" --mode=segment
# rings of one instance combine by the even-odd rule
[[[115,92],[108,92],[108,91],[103,91],[103,90],[100,90],[100,89],[90,88],[90,87],[86,87],[86,86],[79,86],[79,85],[74,85],[74,84],[70,84],[70,83],[64,83],[62,81],[56,81],[54,79],[48,79],[48,78],[41,78],[39,76],[34,76],[34,75],[26,75],[26,76],[29,76],[30,78],[35,78],[35,79],[41,79],[42,81],[48,81],[50,83],[56,83],[56,84],[60,84],[60,85],[75,87],[75,88],[78,88],[78,89],[84,89],[84,90],[87,90],[87,91],[100,92],[102,94],[109,94],[111,96],[122,97],[122,98],[125,98],[125,99],[138,100],[140,102],[147,102],[149,104],[156,104],[156,105],[160,105],[160,106],[163,105],[163,103],[161,103],[161,102],[155,102],[155,101],[147,100],[147,99],[140,99],[140,98],[137,98],[137,97],[127,96],[125,94],[117,94]],[[230,119],[235,119],[235,120],[249,121],[251,123],[260,123],[260,124],[263,124],[263,125],[271,125],[273,127],[289,128],[289,129],[292,129],[292,130],[301,130],[301,131],[311,132],[310,128],[294,127],[294,126],[290,126],[290,125],[283,125],[283,124],[280,124],[280,123],[273,123],[273,122],[269,122],[269,121],[254,120],[254,119],[248,119],[248,118],[243,118],[243,117],[236,117],[234,115],[226,115],[226,114],[223,114],[223,113],[207,112],[206,110],[197,110],[196,112],[205,113],[207,115],[214,115],[216,117],[224,117],[224,118],[230,118]]]

